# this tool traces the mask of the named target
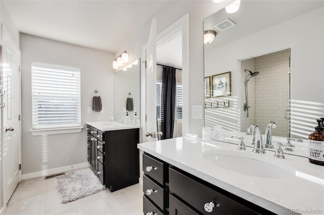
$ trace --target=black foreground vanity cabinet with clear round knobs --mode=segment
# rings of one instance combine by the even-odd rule
[[[146,152],[143,171],[144,214],[275,214]]]

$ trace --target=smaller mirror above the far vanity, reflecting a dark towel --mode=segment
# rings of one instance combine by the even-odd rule
[[[114,74],[114,114],[125,117],[128,112],[131,123],[138,125],[141,118],[140,62],[141,59],[138,59]],[[135,113],[138,116],[137,123],[134,121]]]

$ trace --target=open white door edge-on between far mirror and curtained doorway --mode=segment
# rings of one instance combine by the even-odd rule
[[[143,63],[146,77],[142,83],[145,83],[145,89],[142,88],[142,98],[145,98],[141,114],[143,116],[143,142],[157,140],[157,124],[156,124],[156,19],[152,19],[151,30],[148,42],[143,46]],[[142,84],[144,85],[144,84]],[[145,120],[146,115],[146,120]],[[151,136],[146,136],[150,133]]]

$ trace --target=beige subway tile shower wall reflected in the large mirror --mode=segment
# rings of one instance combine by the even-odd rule
[[[272,135],[289,137],[289,120],[285,119],[285,111],[289,109],[290,56],[291,49],[287,49],[242,61],[243,73],[244,69],[260,73],[249,81],[249,118],[252,118],[247,118],[245,124],[244,119],[241,120],[241,126],[245,128],[241,131],[246,131],[255,117],[255,123],[260,126],[262,132],[265,132],[267,123],[272,120],[277,124],[272,130]],[[242,103],[245,103],[244,78],[242,75]],[[246,116],[245,113],[243,115]]]

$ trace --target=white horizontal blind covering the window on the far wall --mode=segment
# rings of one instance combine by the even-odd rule
[[[31,63],[32,127],[81,126],[80,69],[47,63]]]

